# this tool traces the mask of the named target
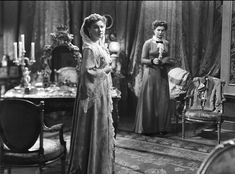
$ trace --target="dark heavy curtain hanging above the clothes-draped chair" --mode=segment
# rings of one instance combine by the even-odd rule
[[[182,61],[192,76],[219,76],[222,31],[221,4],[182,2]]]

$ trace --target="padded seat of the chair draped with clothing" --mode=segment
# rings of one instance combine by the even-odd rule
[[[219,117],[221,117],[220,112],[211,112],[208,110],[189,109],[185,112],[186,119],[199,121],[216,121]]]

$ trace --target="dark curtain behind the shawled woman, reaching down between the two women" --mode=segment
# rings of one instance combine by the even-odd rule
[[[101,15],[109,14],[113,17],[113,27],[107,33],[115,33],[117,41],[120,43],[121,51],[119,61],[121,63],[121,72],[124,78],[120,79],[119,88],[122,92],[122,98],[119,102],[120,115],[127,115],[127,106],[134,105],[128,94],[128,65],[130,63],[130,54],[133,45],[135,45],[135,33],[137,32],[138,18],[140,14],[139,1],[71,1],[70,19],[71,32],[74,34],[74,44],[81,49],[82,40],[80,37],[80,28],[83,19],[91,13]],[[133,107],[134,107],[133,106]]]

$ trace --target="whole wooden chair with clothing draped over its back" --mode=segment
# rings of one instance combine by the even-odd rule
[[[188,87],[182,114],[182,138],[185,138],[185,122],[217,125],[217,141],[220,143],[223,122],[224,82],[212,76],[195,77]]]

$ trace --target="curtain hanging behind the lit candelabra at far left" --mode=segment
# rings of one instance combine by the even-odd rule
[[[25,34],[26,57],[30,56],[31,42],[35,42],[36,60],[43,47],[50,45],[50,33],[60,24],[69,25],[67,1],[3,1],[3,53],[13,59],[13,42]],[[37,70],[40,64],[34,64]]]

